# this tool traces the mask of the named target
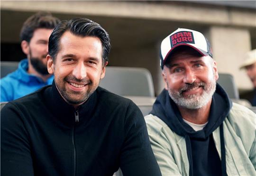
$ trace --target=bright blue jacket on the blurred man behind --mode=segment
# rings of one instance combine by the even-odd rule
[[[19,62],[18,69],[0,79],[1,98],[0,102],[12,101],[24,95],[37,91],[39,88],[52,84],[54,76],[46,82],[35,75],[27,73],[28,61],[23,59]]]

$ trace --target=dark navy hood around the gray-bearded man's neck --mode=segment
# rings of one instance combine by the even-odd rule
[[[218,83],[216,84],[216,91],[212,96],[210,106],[209,121],[202,129],[203,133],[201,130],[198,132],[194,131],[191,126],[183,121],[177,105],[170,98],[167,90],[163,90],[157,97],[150,113],[163,120],[176,134],[205,139],[222,124],[232,107],[228,94]]]

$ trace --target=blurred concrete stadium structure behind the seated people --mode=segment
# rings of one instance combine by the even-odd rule
[[[109,66],[144,67],[153,77],[155,95],[164,87],[160,42],[177,28],[203,33],[211,43],[220,73],[234,76],[239,92],[252,89],[244,54],[256,49],[256,1],[0,1],[0,59],[26,58],[19,32],[27,17],[49,11],[63,19],[89,18],[110,34]]]

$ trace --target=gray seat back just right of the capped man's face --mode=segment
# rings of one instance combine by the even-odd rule
[[[217,83],[228,93],[230,99],[239,99],[238,87],[232,75],[219,73]]]

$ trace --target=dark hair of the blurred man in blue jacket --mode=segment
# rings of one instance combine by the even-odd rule
[[[58,23],[60,23],[60,20],[57,17],[53,17],[51,13],[37,12],[24,22],[20,31],[20,40],[30,42],[36,29],[54,29]]]

